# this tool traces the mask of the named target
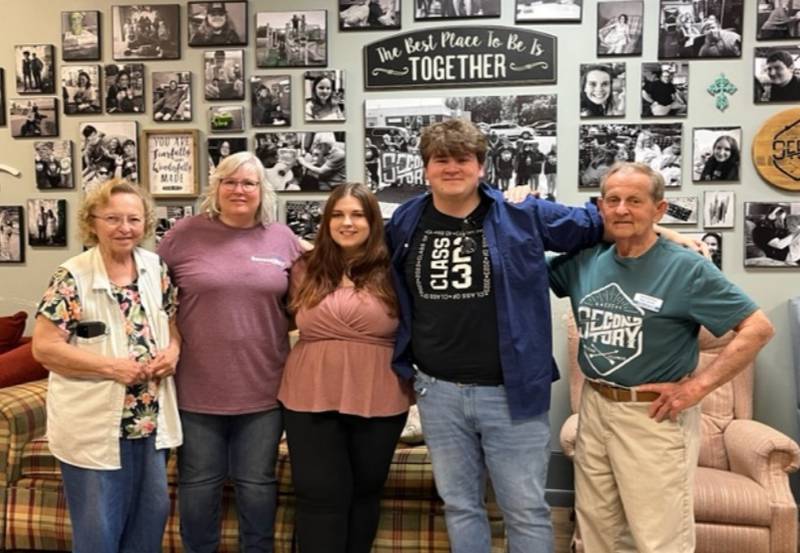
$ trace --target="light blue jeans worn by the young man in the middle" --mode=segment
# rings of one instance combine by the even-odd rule
[[[544,496],[550,458],[547,413],[512,421],[504,386],[455,384],[418,371],[414,389],[452,552],[491,549],[488,470],[509,552],[550,553],[553,529]]]

